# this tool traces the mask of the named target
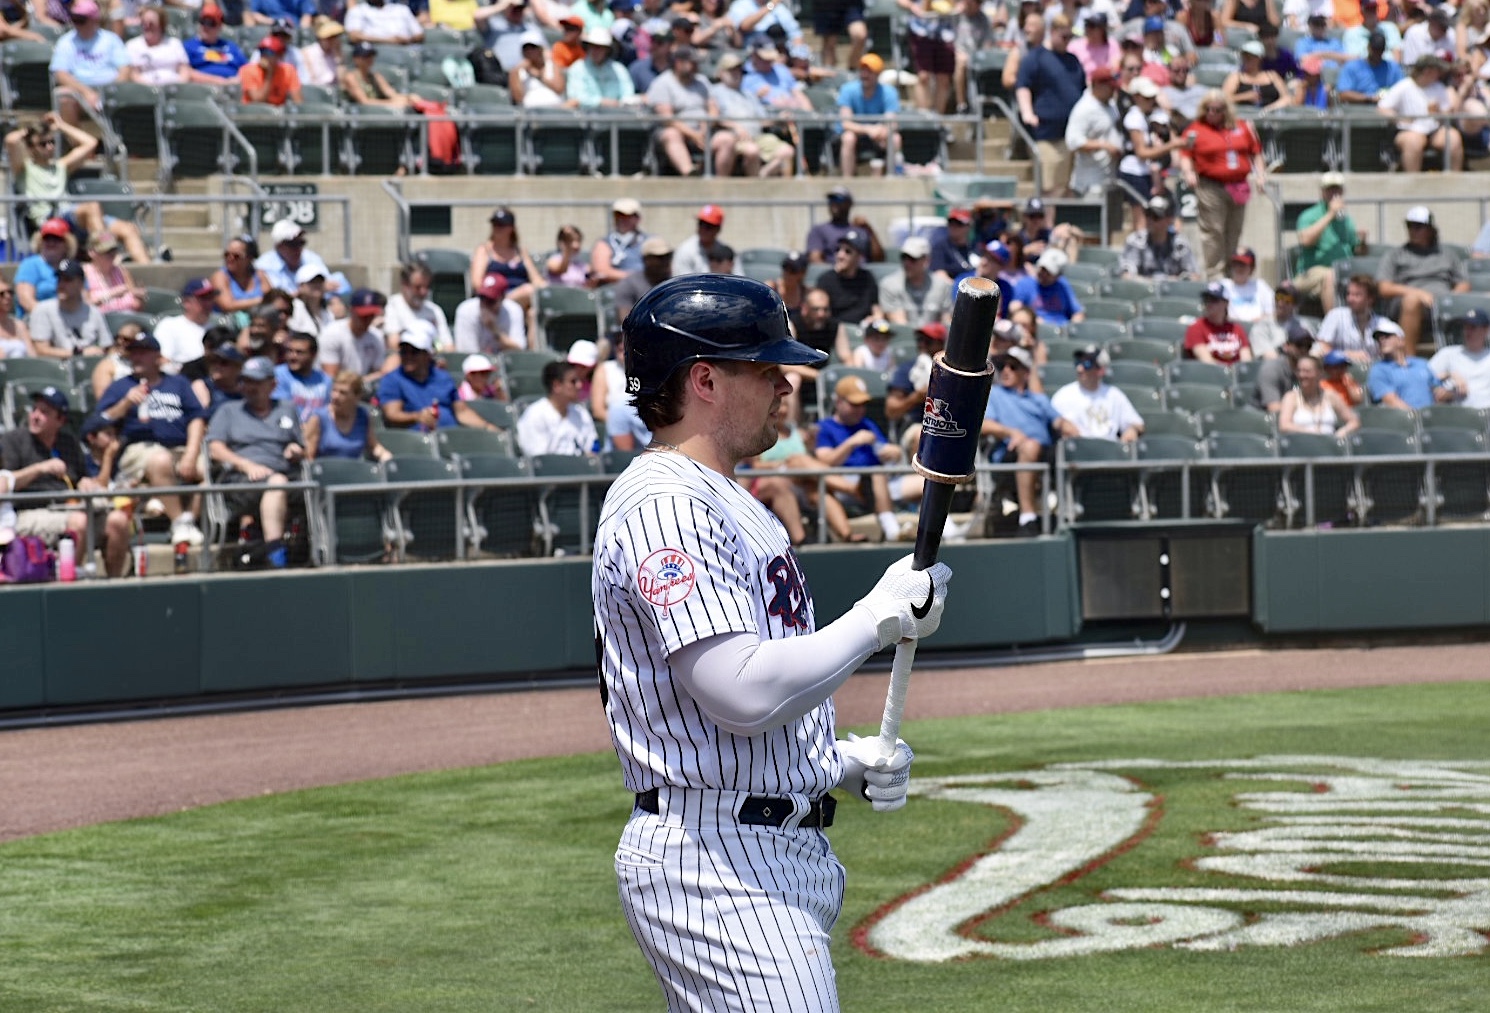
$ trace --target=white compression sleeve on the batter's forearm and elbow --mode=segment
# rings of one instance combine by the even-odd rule
[[[878,650],[873,617],[852,608],[808,636],[724,633],[675,651],[668,663],[705,717],[735,734],[760,734],[827,700]]]

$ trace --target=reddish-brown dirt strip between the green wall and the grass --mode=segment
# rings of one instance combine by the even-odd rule
[[[1486,678],[1490,645],[955,669],[918,672],[906,718]],[[878,723],[887,681],[885,673],[849,679],[837,694],[840,723]],[[0,733],[0,840],[259,794],[608,746],[593,690],[9,731]]]

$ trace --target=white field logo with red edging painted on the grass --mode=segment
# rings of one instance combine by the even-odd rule
[[[1277,782],[1232,797],[1255,825],[1205,834],[1188,863],[1214,885],[1106,889],[1040,912],[1056,939],[998,941],[979,925],[1040,889],[1141,848],[1159,801],[1125,773],[1196,770]],[[1009,810],[1016,828],[951,877],[854,933],[893,959],[1049,959],[1149,946],[1228,952],[1368,930],[1405,933],[1380,956],[1475,956],[1490,944],[1490,763],[1274,755],[1103,760],[1043,770],[912,779],[910,794]],[[1389,877],[1351,874],[1371,866]]]

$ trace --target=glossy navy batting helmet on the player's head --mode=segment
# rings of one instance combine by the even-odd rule
[[[621,332],[627,393],[657,393],[678,366],[697,359],[827,362],[827,355],[791,338],[779,295],[732,274],[663,282],[632,307]]]

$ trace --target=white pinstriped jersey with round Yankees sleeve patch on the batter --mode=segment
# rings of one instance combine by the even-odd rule
[[[606,493],[592,581],[605,709],[629,790],[818,797],[837,784],[831,699],[746,737],[709,721],[670,678],[668,655],[696,641],[815,629],[787,532],[748,490],[682,454],[642,454]]]

